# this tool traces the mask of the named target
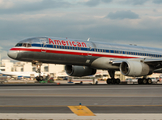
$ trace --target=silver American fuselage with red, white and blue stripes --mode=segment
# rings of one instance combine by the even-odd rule
[[[162,49],[37,37],[20,41],[8,55],[20,61],[118,69],[119,66],[110,64],[112,59],[161,58]]]

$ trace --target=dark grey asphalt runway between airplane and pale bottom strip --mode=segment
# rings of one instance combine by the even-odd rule
[[[162,113],[162,85],[1,85],[0,113]]]

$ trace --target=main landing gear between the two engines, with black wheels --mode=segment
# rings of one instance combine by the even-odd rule
[[[107,84],[120,84],[120,79],[115,79],[115,71],[114,70],[109,70],[108,71],[111,79],[107,79]]]

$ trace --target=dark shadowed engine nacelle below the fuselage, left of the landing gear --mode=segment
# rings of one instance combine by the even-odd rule
[[[78,77],[94,75],[96,73],[96,69],[87,66],[73,66],[73,65],[66,65],[65,71],[70,76],[78,76]]]

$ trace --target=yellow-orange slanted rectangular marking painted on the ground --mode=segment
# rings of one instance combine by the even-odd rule
[[[78,116],[96,116],[89,108],[86,106],[68,106],[69,109]]]

